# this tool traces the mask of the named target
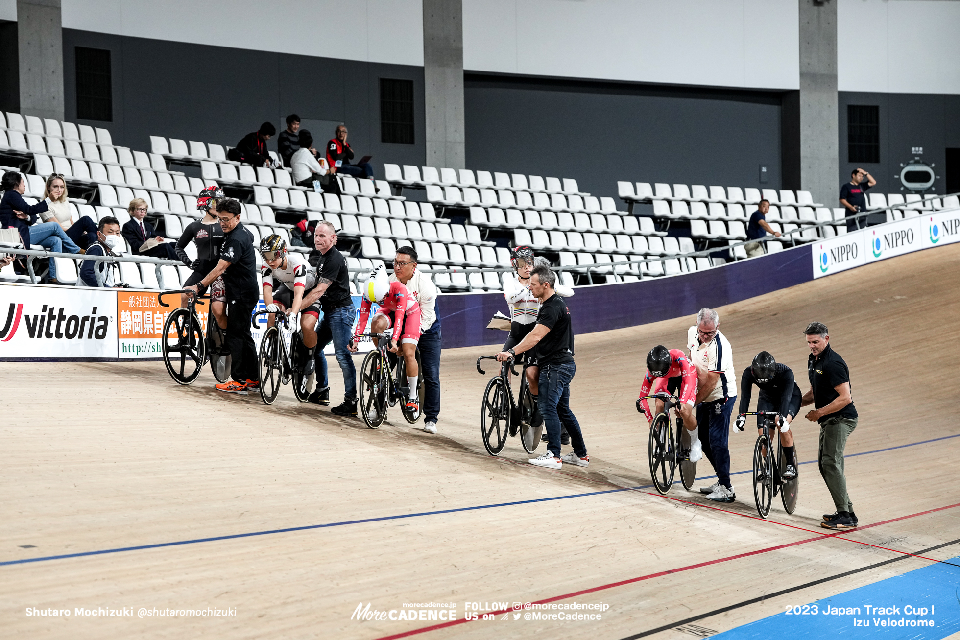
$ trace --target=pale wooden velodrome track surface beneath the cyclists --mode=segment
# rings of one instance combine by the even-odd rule
[[[801,467],[796,513],[778,497],[767,521],[756,518],[749,474],[733,476],[732,505],[679,484],[667,497],[648,488],[646,423],[634,408],[643,357],[654,344],[683,346],[692,317],[578,336],[571,404],[591,462],[562,472],[527,464],[516,439],[499,458],[484,452],[487,378],[474,361],[489,347],[444,351],[436,436],[396,412],[371,431],[297,403],[289,388],[272,407],[225,397],[208,369],[183,388],[160,363],[0,364],[0,636],[372,639],[439,623],[357,622],[358,604],[451,603],[463,621],[478,603],[481,620],[416,637],[664,628],[653,635],[688,638],[677,628],[736,628],[955,557],[960,544],[923,554],[932,559],[900,552],[960,537],[960,438],[942,439],[960,435],[956,373],[939,348],[960,338],[958,270],[952,245],[719,309],[737,381],[769,349],[804,391],[803,327],[828,324],[860,413],[847,453],[875,452],[847,460],[860,529],[842,537],[819,528],[833,506],[815,463]],[[794,424],[800,460],[815,460],[817,427]],[[750,429],[731,436],[732,471],[750,468],[755,439]],[[890,449],[899,445],[910,446]],[[697,486],[711,474],[705,459]],[[615,490],[624,487],[640,488]],[[113,551],[130,547],[145,548]],[[51,559],[11,562],[28,558]],[[902,559],[795,588],[891,558]],[[784,589],[794,590],[771,596]],[[557,598],[609,608],[600,621],[482,619],[494,603]],[[25,614],[98,606],[132,615]],[[235,615],[141,619],[140,607]]]

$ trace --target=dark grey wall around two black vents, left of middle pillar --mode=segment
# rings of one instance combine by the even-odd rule
[[[15,39],[14,39],[15,42]],[[112,60],[113,122],[77,120],[74,47],[108,49]],[[398,64],[311,58],[203,44],[63,30],[65,118],[110,131],[114,144],[150,149],[150,135],[233,146],[260,123],[276,130],[301,118],[346,122],[358,156],[382,163],[422,164],[422,98],[415,104],[414,145],[380,142],[379,78],[414,82],[423,95],[423,69]],[[314,131],[315,146],[333,131]],[[276,150],[276,138],[269,143]]]

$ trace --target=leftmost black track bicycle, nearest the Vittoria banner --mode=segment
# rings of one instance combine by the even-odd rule
[[[180,289],[178,291],[164,291],[156,295],[156,301],[161,307],[170,305],[163,301],[163,296],[180,296],[187,294],[185,307],[178,307],[167,316],[163,322],[163,337],[160,340],[160,350],[163,353],[163,364],[167,373],[179,385],[190,385],[200,375],[201,369],[207,360],[217,382],[227,382],[230,377],[230,353],[227,348],[227,335],[217,324],[213,312],[206,315],[206,332],[204,338],[203,323],[197,315],[197,300],[210,299],[210,296],[198,296],[194,291]]]

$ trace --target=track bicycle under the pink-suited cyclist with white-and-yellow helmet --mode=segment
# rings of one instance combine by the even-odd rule
[[[410,390],[407,388],[407,366],[399,354],[392,354],[387,345],[393,340],[389,333],[365,333],[359,336],[353,336],[350,342],[359,341],[361,338],[376,338],[377,346],[372,349],[363,359],[363,367],[360,367],[360,414],[363,415],[363,421],[371,429],[379,429],[383,421],[387,419],[387,408],[393,407],[397,402],[406,405],[410,398]],[[394,358],[391,358],[391,355]],[[391,363],[396,360],[396,375]],[[414,424],[423,415],[423,365],[420,362],[420,349],[417,349],[417,397],[420,398],[420,409],[416,412],[408,412],[404,406],[400,413],[410,424]],[[375,413],[375,417],[372,414]]]

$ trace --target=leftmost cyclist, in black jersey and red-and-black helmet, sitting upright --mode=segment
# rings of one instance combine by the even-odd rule
[[[184,287],[195,285],[204,279],[204,275],[213,271],[220,262],[220,246],[224,243],[224,230],[217,219],[217,202],[226,200],[224,190],[218,186],[206,187],[197,196],[197,210],[204,212],[203,219],[186,225],[180,238],[177,240],[177,257],[184,265],[193,270],[193,273],[183,283]],[[186,254],[186,246],[190,242],[197,247],[197,259],[191,260]],[[180,294],[180,306],[186,306],[186,294]],[[227,288],[224,285],[224,276],[219,275],[210,285],[210,311],[217,320],[221,329],[227,328]]]

